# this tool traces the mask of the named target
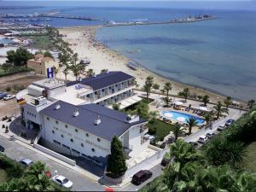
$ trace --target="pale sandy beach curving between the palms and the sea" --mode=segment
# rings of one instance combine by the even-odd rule
[[[211,97],[211,102],[221,101],[223,102],[224,96],[220,96],[216,93],[196,88],[193,86],[180,84],[170,79],[161,77],[158,74],[152,73],[143,67],[139,67],[137,71],[126,67],[125,64],[130,61],[129,58],[124,55],[120,55],[118,52],[108,49],[104,45],[96,41],[96,30],[100,26],[81,26],[70,28],[59,28],[61,34],[64,35],[63,39],[70,44],[70,47],[79,54],[80,59],[89,59],[90,65],[87,67],[94,69],[95,73],[100,73],[102,69],[108,69],[109,71],[123,71],[129,73],[137,79],[137,83],[140,87],[143,86],[145,79],[151,75],[154,77],[154,82],[160,84],[160,89],[163,88],[166,82],[172,84],[172,94],[177,94],[182,91],[183,88],[189,87],[190,93],[194,93],[199,96],[207,94]],[[62,78],[59,73],[60,78]],[[67,79],[74,80],[73,74],[69,74]]]

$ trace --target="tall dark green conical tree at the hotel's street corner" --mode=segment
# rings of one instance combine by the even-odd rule
[[[125,154],[123,145],[118,137],[113,137],[111,143],[111,154],[108,156],[107,172],[109,177],[120,177],[125,174],[127,166],[125,164]]]

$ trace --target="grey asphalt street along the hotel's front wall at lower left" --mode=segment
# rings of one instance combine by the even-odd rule
[[[5,137],[0,136],[0,145],[5,148],[4,153],[14,160],[21,160],[22,158],[29,158],[33,161],[40,160],[49,167],[51,172],[57,170],[58,174],[61,174],[68,179],[72,180],[73,190],[83,190],[83,191],[103,191],[104,186],[101,184],[90,180],[88,177],[84,177],[83,175],[79,174],[78,172],[74,172],[73,170],[67,168],[66,166],[59,165],[54,160],[49,160],[48,158],[44,157],[41,154],[38,154],[28,148],[20,146],[17,143],[9,141]]]

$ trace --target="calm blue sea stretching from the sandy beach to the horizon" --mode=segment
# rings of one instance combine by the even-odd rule
[[[98,18],[55,19],[51,26],[97,25],[107,20],[160,21],[211,14],[218,20],[195,23],[104,27],[96,39],[169,79],[247,101],[256,100],[256,12],[206,9],[96,8],[48,6],[1,9],[0,13],[44,13]]]

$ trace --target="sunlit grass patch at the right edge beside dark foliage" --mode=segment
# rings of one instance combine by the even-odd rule
[[[245,157],[247,167],[256,172],[256,142],[247,146],[247,155]]]

